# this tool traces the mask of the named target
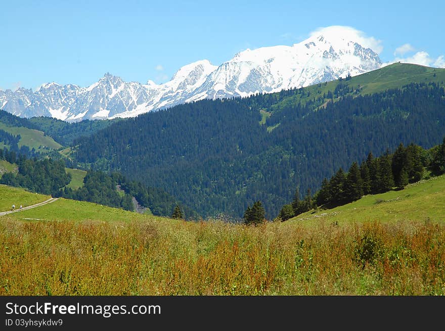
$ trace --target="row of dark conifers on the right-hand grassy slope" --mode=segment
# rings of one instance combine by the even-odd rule
[[[402,189],[422,179],[425,168],[436,175],[445,173],[445,138],[430,150],[400,144],[393,154],[386,151],[374,158],[369,153],[360,166],[353,162],[347,173],[340,168],[330,180],[324,178],[314,197],[308,190],[304,200],[300,200],[297,188],[292,203],[283,206],[279,217],[285,221],[313,208],[332,208],[359,200],[363,195]]]

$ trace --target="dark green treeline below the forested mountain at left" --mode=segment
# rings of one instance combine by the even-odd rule
[[[7,149],[0,150],[0,160],[16,163],[18,173],[3,174],[0,183],[27,188],[29,191],[63,197],[78,201],[93,202],[109,207],[135,209],[132,197],[138,203],[151,210],[154,215],[170,216],[174,207],[178,205],[176,199],[159,188],[146,187],[138,181],[130,181],[122,174],[114,172],[111,175],[103,171],[87,171],[83,186],[73,190],[66,185],[71,181],[71,175],[65,171],[63,160],[45,158],[28,159]],[[119,194],[120,185],[123,194]],[[196,219],[198,214],[187,207],[182,207],[187,219]]]

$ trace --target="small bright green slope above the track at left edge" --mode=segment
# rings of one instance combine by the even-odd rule
[[[23,207],[48,200],[50,196],[31,193],[24,188],[11,187],[0,184],[0,211],[11,210],[11,206],[23,205]]]

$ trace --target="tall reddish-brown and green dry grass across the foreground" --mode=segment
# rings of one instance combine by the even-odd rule
[[[0,222],[1,295],[443,295],[429,221]]]

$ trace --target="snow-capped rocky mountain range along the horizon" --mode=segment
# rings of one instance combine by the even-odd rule
[[[247,49],[219,66],[207,60],[191,63],[164,84],[124,82],[107,73],[88,87],[48,83],[35,92],[0,90],[0,105],[21,117],[79,121],[133,117],[206,98],[275,92],[380,68],[377,53],[358,41],[347,33],[325,30],[292,46]]]

